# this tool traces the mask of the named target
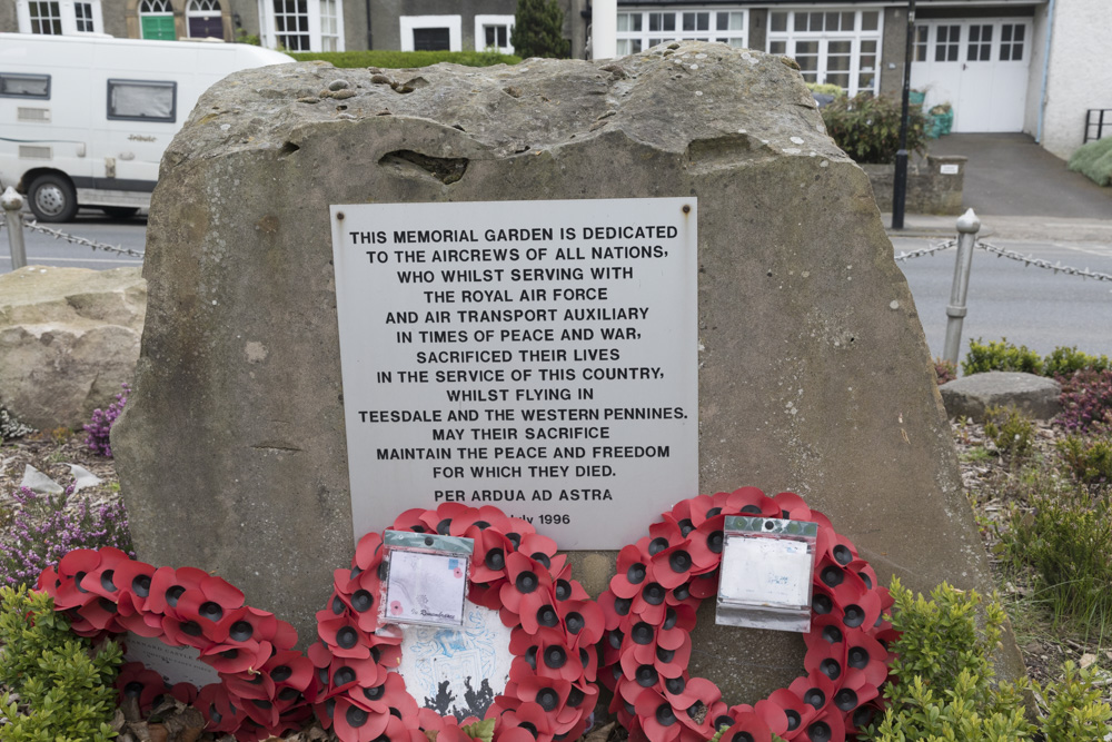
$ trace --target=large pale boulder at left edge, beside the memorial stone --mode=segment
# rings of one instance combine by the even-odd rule
[[[39,429],[80,428],[131,382],[146,308],[138,268],[0,275],[0,403]]]

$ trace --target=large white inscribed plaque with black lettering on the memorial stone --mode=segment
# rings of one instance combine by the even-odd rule
[[[356,537],[459,502],[617,548],[697,494],[695,198],[331,215]]]

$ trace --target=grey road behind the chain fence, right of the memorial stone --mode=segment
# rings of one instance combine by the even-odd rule
[[[942,239],[893,237],[895,254],[939,244]],[[1022,255],[1089,268],[1112,275],[1112,243],[1055,243],[989,237],[989,244]],[[931,355],[941,357],[946,334],[946,305],[953,285],[956,249],[897,265],[907,277]],[[1059,346],[1076,346],[1090,354],[1112,356],[1112,281],[1082,279],[997,258],[983,249],[973,254],[969,314],[962,328],[960,358],[970,338],[1006,337],[1016,345],[1048,354]]]

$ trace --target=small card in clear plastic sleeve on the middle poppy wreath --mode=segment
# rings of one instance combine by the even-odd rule
[[[467,560],[460,556],[391,550],[387,620],[459,626],[464,622],[466,574]]]

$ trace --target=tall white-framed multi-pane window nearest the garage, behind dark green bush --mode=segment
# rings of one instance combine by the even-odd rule
[[[773,10],[767,50],[794,58],[807,82],[875,93],[881,32],[880,10]]]

